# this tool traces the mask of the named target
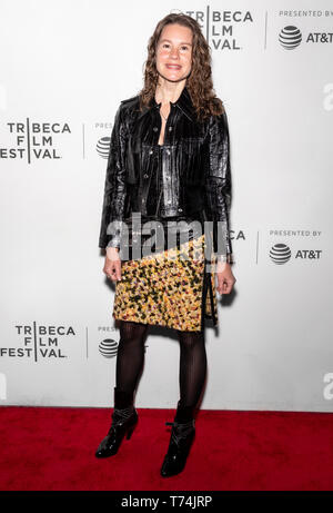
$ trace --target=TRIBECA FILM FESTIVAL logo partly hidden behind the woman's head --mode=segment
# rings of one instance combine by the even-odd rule
[[[173,9],[171,12],[179,11]],[[204,10],[185,10],[184,13],[198,21],[212,50],[242,50],[235,28],[244,23],[253,23],[250,11],[221,11],[205,6]]]

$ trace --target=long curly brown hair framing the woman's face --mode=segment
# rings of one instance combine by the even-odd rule
[[[199,23],[188,14],[171,13],[165,16],[157,24],[149,39],[148,59],[144,66],[144,86],[139,92],[140,110],[148,106],[155,95],[159,81],[157,70],[157,47],[162,30],[169,23],[178,23],[192,30],[192,67],[186,79],[186,88],[191,96],[198,119],[203,120],[211,115],[220,115],[224,111],[223,102],[216,97],[213,89],[211,69],[211,48],[201,32]]]

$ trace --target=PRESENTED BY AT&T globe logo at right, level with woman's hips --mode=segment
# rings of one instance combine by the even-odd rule
[[[313,230],[312,233],[309,230],[301,230],[297,233],[281,230],[280,235],[303,235],[303,236],[313,236],[319,237],[321,236],[321,231]],[[276,230],[271,230],[270,235],[276,235]],[[309,248],[299,248],[294,253],[294,259],[297,260],[320,260],[322,256],[322,249],[309,249]],[[276,265],[283,265],[291,260],[292,258],[292,250],[289,245],[283,243],[274,244],[274,246],[270,249],[270,258]]]

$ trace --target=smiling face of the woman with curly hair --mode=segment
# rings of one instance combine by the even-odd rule
[[[192,41],[193,33],[188,27],[167,24],[157,47],[159,75],[172,82],[185,79],[191,71]]]

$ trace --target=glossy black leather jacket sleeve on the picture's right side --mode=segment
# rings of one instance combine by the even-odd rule
[[[233,263],[229,216],[231,207],[230,138],[226,112],[209,122],[209,166],[205,175],[208,208],[213,220],[213,250],[218,259]]]

